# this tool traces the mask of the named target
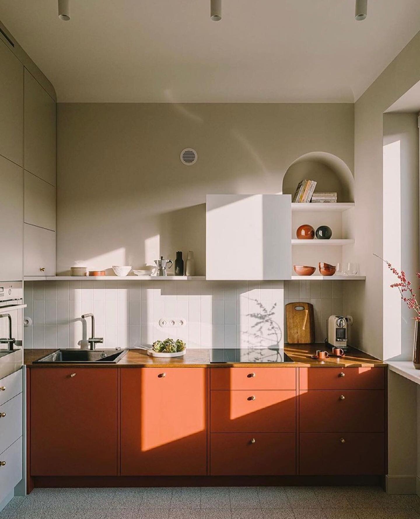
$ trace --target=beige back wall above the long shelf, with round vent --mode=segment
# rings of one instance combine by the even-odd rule
[[[57,272],[141,267],[160,242],[172,259],[194,250],[204,275],[205,195],[282,192],[314,151],[353,171],[353,104],[59,104]]]

